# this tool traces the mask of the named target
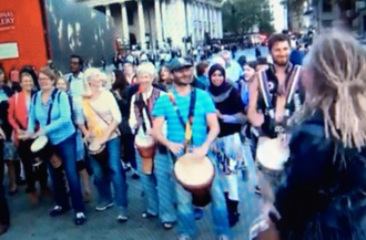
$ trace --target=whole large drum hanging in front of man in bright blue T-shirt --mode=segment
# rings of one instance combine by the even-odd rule
[[[193,205],[204,207],[211,202],[211,186],[215,168],[209,157],[202,159],[193,154],[177,158],[174,174],[179,184],[192,194]]]

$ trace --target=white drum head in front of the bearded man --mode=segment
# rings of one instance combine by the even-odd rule
[[[272,170],[283,170],[288,157],[289,148],[284,146],[279,138],[258,142],[256,158],[264,167]]]

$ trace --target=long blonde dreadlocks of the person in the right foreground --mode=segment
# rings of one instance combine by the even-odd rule
[[[364,147],[365,65],[366,50],[350,33],[334,29],[317,38],[304,61],[312,81],[297,119],[305,119],[321,109],[326,137],[340,140],[344,147]]]

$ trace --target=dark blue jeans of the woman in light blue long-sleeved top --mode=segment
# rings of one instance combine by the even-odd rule
[[[63,170],[65,173],[72,207],[75,212],[84,211],[84,204],[81,194],[81,186],[79,179],[79,173],[77,170],[77,135],[72,134],[62,143],[53,146],[55,155],[58,155],[63,165]],[[62,175],[58,173],[49,163],[49,170],[52,179],[53,191],[55,204],[61,207],[69,207],[69,196],[67,194],[67,188]]]

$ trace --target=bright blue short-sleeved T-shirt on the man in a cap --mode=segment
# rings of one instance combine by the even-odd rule
[[[186,123],[189,117],[191,93],[185,96],[180,96],[175,90],[172,90],[172,93],[174,94],[176,106],[181,111],[183,121]],[[206,115],[215,113],[215,105],[210,95],[202,90],[196,90],[196,102],[192,127],[193,146],[199,147],[206,140]],[[167,94],[157,98],[153,109],[153,117],[164,117],[166,119],[166,137],[169,140],[174,143],[184,143],[185,129],[182,126]]]

